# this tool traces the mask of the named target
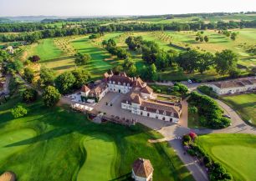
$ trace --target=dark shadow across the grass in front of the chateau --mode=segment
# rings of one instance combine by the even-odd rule
[[[42,110],[44,106],[35,106],[34,108],[38,108]],[[34,114],[38,114],[36,110],[30,111],[33,116]],[[134,127],[126,127],[120,124],[115,123],[104,123],[97,124],[92,123],[89,120],[86,120],[84,114],[82,113],[74,113],[72,111],[67,111],[62,108],[45,108],[44,113],[39,113],[44,116],[36,119],[30,119],[28,125],[33,123],[33,121],[37,121],[38,123],[44,123],[45,125],[51,125],[55,128],[49,130],[44,133],[38,133],[38,136],[33,138],[24,139],[17,143],[8,144],[5,147],[13,147],[13,146],[21,146],[32,143],[38,143],[42,141],[49,141],[53,138],[59,138],[64,135],[70,133],[81,133],[83,135],[90,135],[92,137],[98,138],[97,133],[107,134],[112,138],[125,138],[127,136],[131,136],[134,134],[139,134],[142,132],[150,131],[149,128],[146,128],[142,125],[136,125]],[[100,137],[100,139],[104,139],[104,137]],[[104,139],[109,142],[112,141],[110,139]]]

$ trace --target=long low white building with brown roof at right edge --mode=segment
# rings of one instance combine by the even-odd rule
[[[224,81],[222,83],[210,83],[208,87],[212,88],[219,95],[228,93],[243,93],[256,90],[256,78],[244,78],[240,80]]]

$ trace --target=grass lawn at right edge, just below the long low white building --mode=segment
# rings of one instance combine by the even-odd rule
[[[222,97],[225,103],[228,103],[244,121],[249,121],[256,125],[256,94],[248,93],[234,96]]]

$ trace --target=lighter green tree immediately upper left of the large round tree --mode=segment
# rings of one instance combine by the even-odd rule
[[[38,83],[43,88],[49,85],[54,85],[54,70],[49,68],[41,68]]]

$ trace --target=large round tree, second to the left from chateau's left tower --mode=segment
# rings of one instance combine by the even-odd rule
[[[60,74],[55,80],[55,85],[59,93],[69,93],[74,87],[74,83],[74,75],[70,72]]]

